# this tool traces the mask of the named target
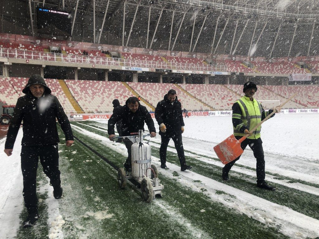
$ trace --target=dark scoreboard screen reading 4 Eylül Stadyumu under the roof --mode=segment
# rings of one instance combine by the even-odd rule
[[[71,36],[72,17],[65,11],[37,7],[38,33]]]

